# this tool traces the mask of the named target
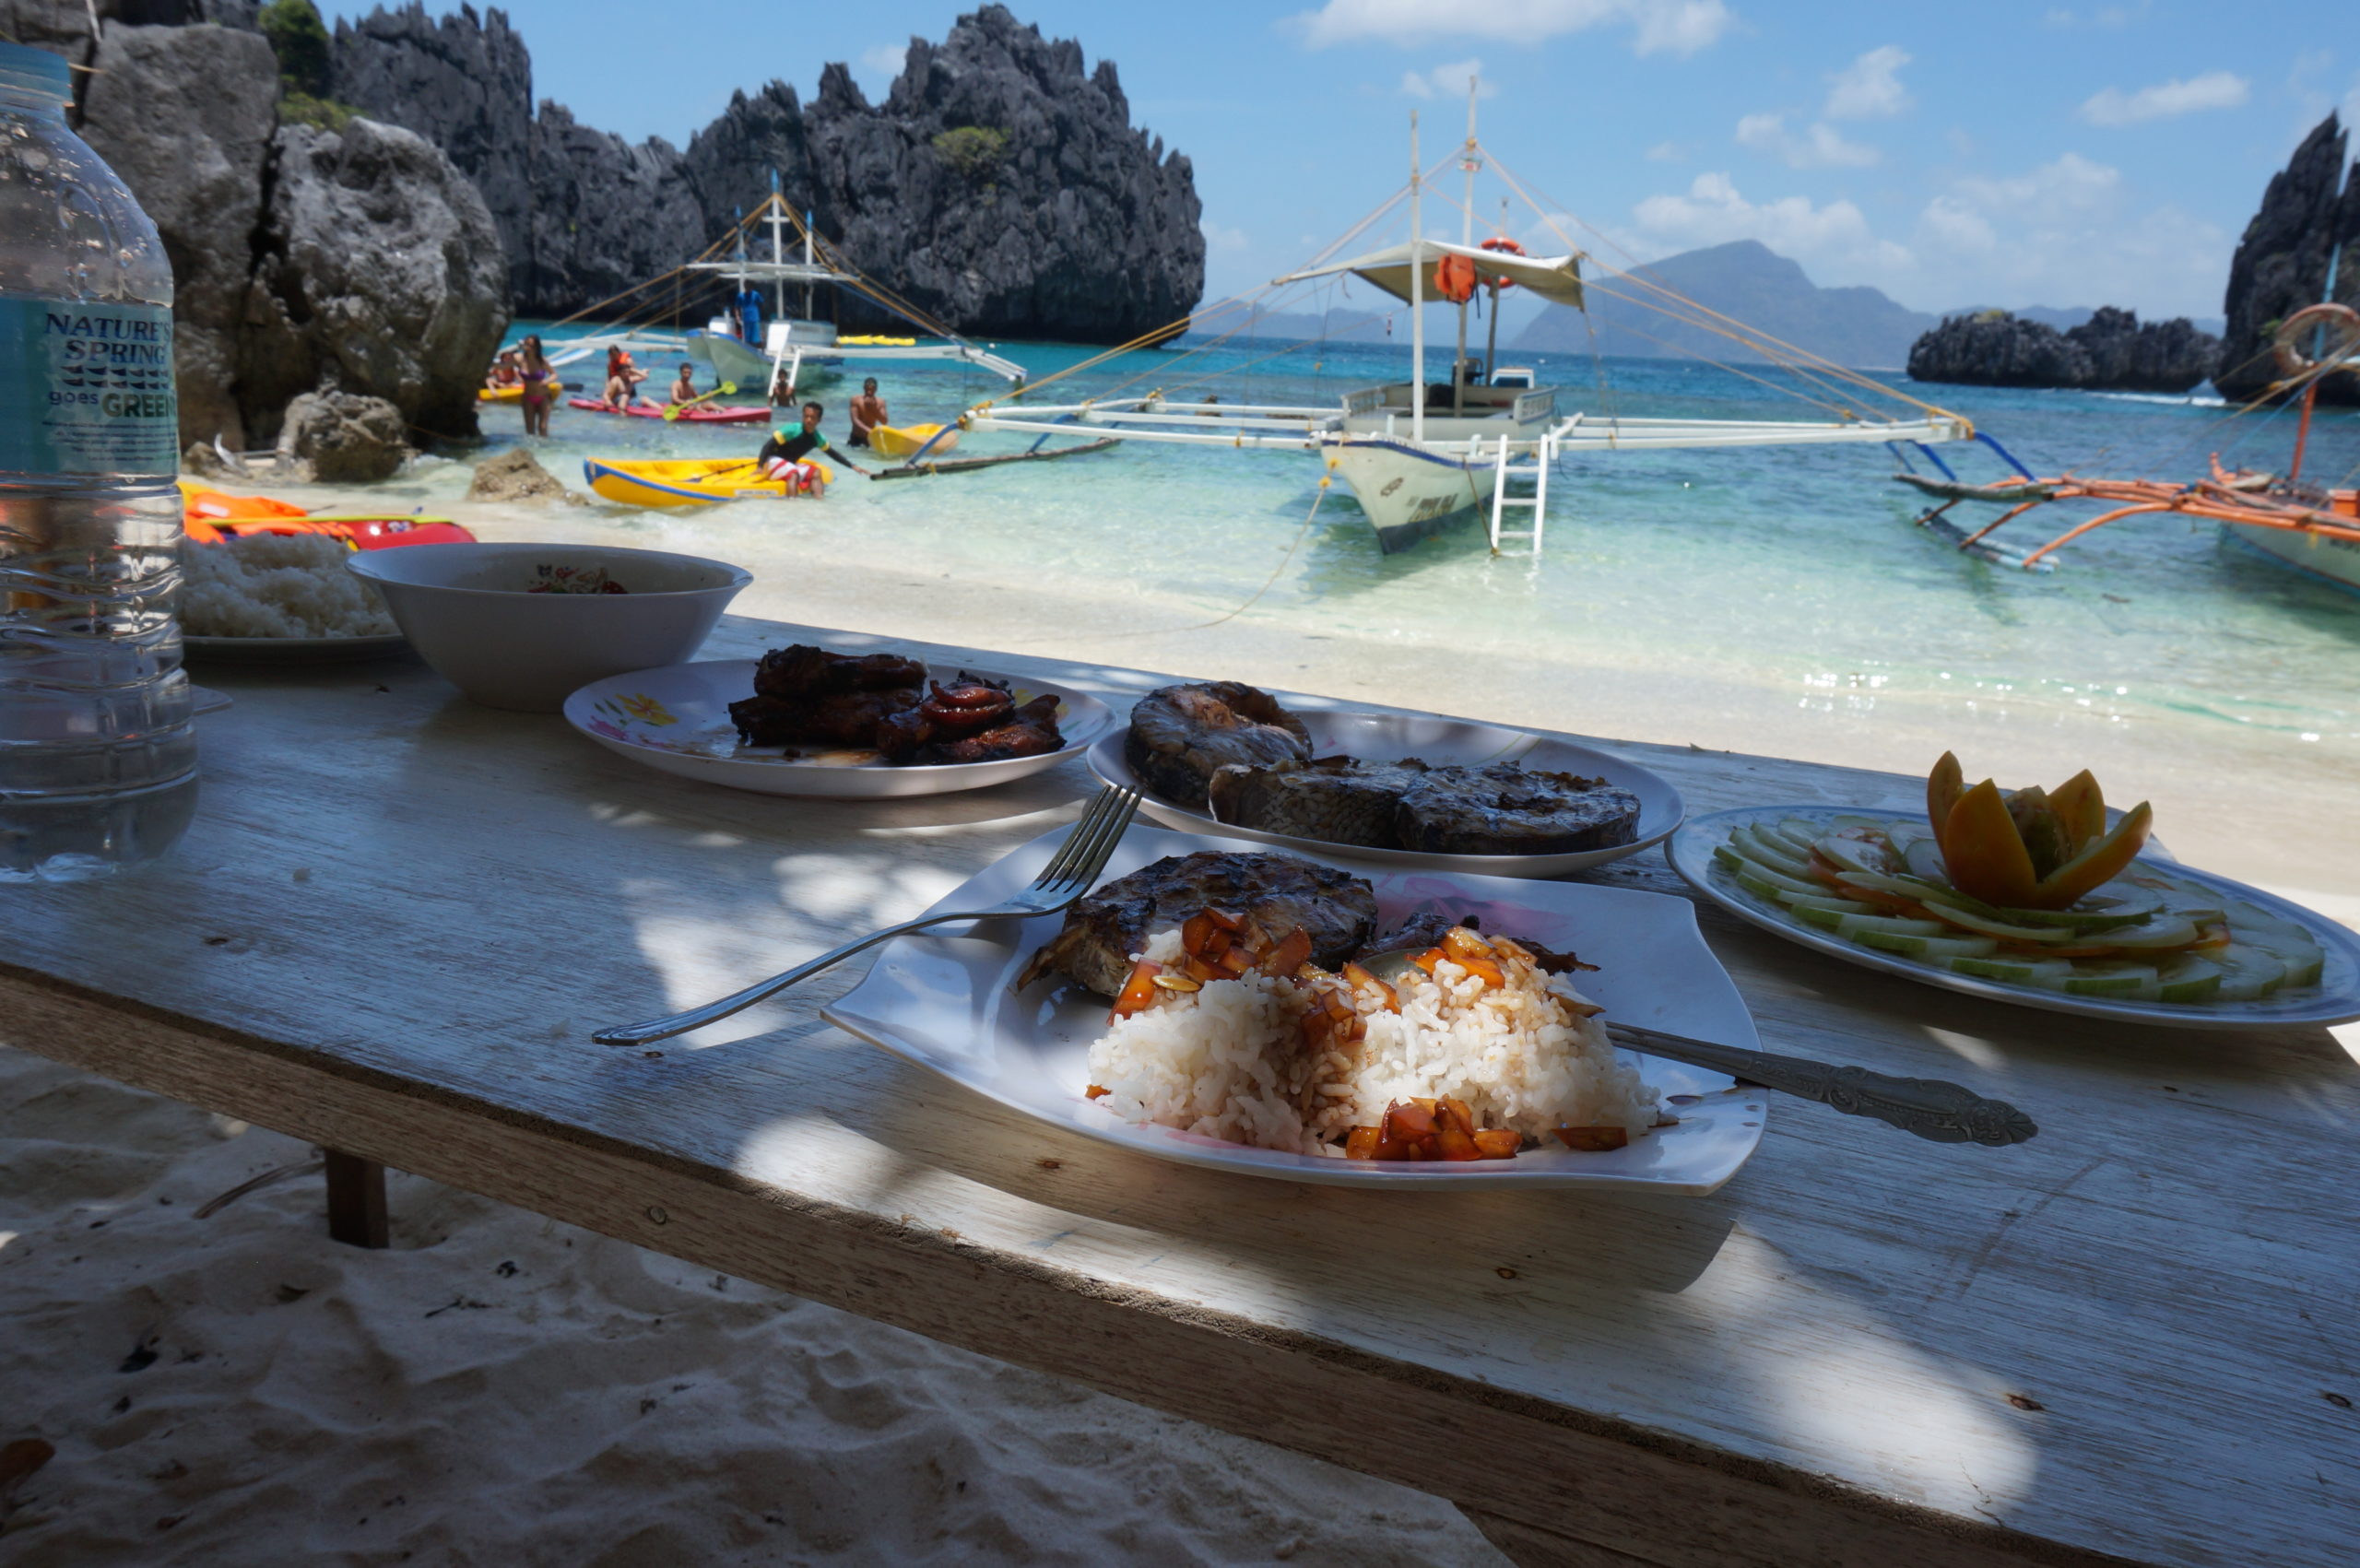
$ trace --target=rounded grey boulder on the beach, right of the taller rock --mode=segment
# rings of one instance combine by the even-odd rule
[[[484,198],[430,142],[375,120],[283,125],[241,333],[248,432],[335,390],[382,397],[425,435],[474,435],[505,274]]]

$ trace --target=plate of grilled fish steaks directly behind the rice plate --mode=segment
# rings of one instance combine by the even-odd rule
[[[1414,713],[1289,708],[1237,680],[1147,692],[1090,770],[1168,827],[1348,860],[1562,876],[1671,836],[1657,772],[1529,730]]]

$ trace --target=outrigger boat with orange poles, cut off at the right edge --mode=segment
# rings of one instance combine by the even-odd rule
[[[2306,335],[2315,335],[2310,352],[2301,347]],[[1919,472],[1893,477],[1942,503],[1923,512],[1916,520],[1919,527],[1949,538],[1968,555],[2001,567],[2053,571],[2058,550],[2093,529],[2122,522],[2124,517],[2174,512],[2218,522],[2230,541],[2259,550],[2280,567],[2292,567],[2336,588],[2360,593],[2360,489],[2315,486],[2303,484],[2301,477],[2320,383],[2329,375],[2360,375],[2360,312],[2348,305],[2310,305],[2280,324],[2270,347],[2277,357],[2280,378],[2256,404],[2301,394],[2294,460],[2284,475],[2221,468],[2216,453],[2211,458],[2211,475],[2192,484],[2171,484],[2164,479],[2086,479],[2079,475],[2041,479],[2013,458],[2008,460],[2018,470],[2015,477],[1997,484],[1966,484],[1940,458],[1935,458],[1935,465],[1942,470],[1940,479]],[[2006,453],[2001,451],[2001,456]],[[2001,527],[2060,501],[2096,501],[2105,510],[2077,522],[2034,550],[2015,550],[1994,538]],[[1961,503],[1989,503],[2006,510],[1978,529],[1961,529],[1949,520],[1949,510]]]

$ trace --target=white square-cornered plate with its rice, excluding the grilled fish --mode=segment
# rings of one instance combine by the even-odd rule
[[[1048,864],[1064,831],[1010,852],[937,909],[972,909],[1017,893]],[[1206,850],[1258,845],[1133,827],[1104,881]],[[1423,980],[1376,987],[1390,992],[1378,1001],[1374,989],[1293,963],[1279,975],[1192,985],[1185,949],[1194,933],[1173,926],[1152,930],[1133,956],[1180,985],[1154,987],[1152,1001],[1114,1018],[1107,997],[1079,985],[1057,978],[1017,985],[1062,930],[1064,916],[1053,914],[897,937],[821,1015],[1057,1129],[1279,1181],[1702,1197],[1761,1143],[1768,1110],[1761,1089],[1621,1051],[1600,1023],[1617,1018],[1761,1046],[1687,900],[1296,860],[1362,878],[1376,897],[1378,930],[1440,916],[1494,933],[1496,952],[1466,966],[1435,961]],[[1534,952],[1499,937],[1520,937],[1536,952],[1579,952],[1581,968],[1546,973]],[[1487,963],[1496,968],[1492,980],[1475,973]],[[1319,1023],[1310,1018],[1315,1011],[1350,1013],[1352,1023]],[[1395,1131],[1395,1112],[1447,1124],[1451,1110],[1477,1136],[1515,1148],[1513,1157],[1369,1157],[1366,1141]],[[1558,1129],[1586,1136],[1562,1138]],[[1621,1145],[1610,1148],[1614,1141]]]

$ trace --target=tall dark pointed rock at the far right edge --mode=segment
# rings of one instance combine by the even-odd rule
[[[2221,302],[2228,333],[2214,373],[2223,397],[2261,397],[2277,380],[2270,354],[2277,324],[2329,298],[2329,260],[2334,302],[2360,307],[2360,163],[2346,165],[2343,151],[2343,125],[2329,113],[2287,168],[2270,175],[2237,241]],[[2320,401],[2360,404],[2360,371],[2320,380]]]

